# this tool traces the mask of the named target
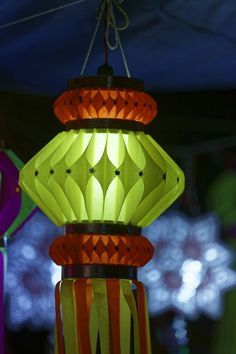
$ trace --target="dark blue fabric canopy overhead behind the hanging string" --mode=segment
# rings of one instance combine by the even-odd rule
[[[0,25],[69,3],[1,0]],[[95,26],[98,1],[80,4],[0,30],[0,90],[58,94],[78,76]],[[121,33],[132,76],[151,91],[236,87],[235,0],[126,0]],[[85,74],[102,63],[98,36]],[[111,64],[124,74],[120,53]]]

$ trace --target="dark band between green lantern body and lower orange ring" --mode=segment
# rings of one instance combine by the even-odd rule
[[[102,235],[141,235],[141,228],[133,225],[106,224],[106,223],[81,223],[67,224],[66,234],[102,234]]]

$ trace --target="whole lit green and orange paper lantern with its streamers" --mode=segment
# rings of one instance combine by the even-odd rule
[[[56,286],[58,353],[95,353],[99,346],[102,354],[128,354],[132,337],[135,353],[148,354],[136,272],[153,247],[141,227],[184,188],[182,171],[143,132],[156,103],[139,80],[98,76],[70,81],[55,113],[67,131],[28,162],[20,184],[52,221],[66,225],[50,247],[63,274]]]

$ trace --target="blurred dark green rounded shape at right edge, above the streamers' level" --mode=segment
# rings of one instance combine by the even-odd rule
[[[220,174],[210,186],[207,204],[221,219],[225,227],[236,224],[236,172],[228,170]]]

